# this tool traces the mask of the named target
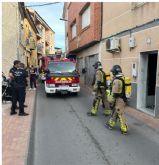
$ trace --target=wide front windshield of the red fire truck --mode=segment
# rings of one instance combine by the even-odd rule
[[[73,62],[49,62],[48,69],[50,73],[72,73],[76,65]]]

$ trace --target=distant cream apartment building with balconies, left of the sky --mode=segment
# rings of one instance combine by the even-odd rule
[[[43,18],[33,9],[28,8],[39,34],[37,35],[37,53],[38,58],[48,54],[54,54],[55,32],[43,20]]]

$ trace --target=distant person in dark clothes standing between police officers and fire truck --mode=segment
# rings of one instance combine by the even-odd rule
[[[29,90],[36,90],[36,74],[37,74],[36,69],[32,65],[30,68],[30,89]]]

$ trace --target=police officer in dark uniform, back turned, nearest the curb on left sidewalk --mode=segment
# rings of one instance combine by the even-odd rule
[[[25,87],[26,87],[26,72],[22,69],[20,61],[15,61],[16,69],[10,72],[12,77],[12,107],[11,115],[17,114],[15,111],[17,101],[19,102],[19,116],[27,116],[28,113],[24,112],[24,100],[25,100]]]

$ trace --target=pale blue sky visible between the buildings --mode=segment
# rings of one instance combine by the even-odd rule
[[[46,2],[44,2],[46,3]],[[29,5],[38,5],[44,4],[39,2],[30,2],[25,3],[26,6]],[[64,3],[57,3],[52,5],[46,6],[39,6],[39,7],[31,7],[36,10],[39,15],[47,22],[47,24],[53,29],[55,32],[55,47],[62,48],[65,50],[65,22],[60,21],[59,19],[62,18],[63,13],[63,5]]]

